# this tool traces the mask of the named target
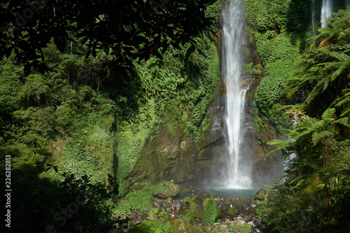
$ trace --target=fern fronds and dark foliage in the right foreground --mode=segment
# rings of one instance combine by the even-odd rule
[[[320,29],[317,36],[309,38],[313,44],[302,54],[302,59],[296,57],[290,61],[297,63],[295,68],[285,60],[284,69],[290,67],[291,71],[283,72],[283,66],[278,69],[279,62],[272,57],[267,73],[270,76],[274,69],[279,71],[276,78],[280,79],[276,80],[280,87],[268,92],[273,83],[270,86],[262,82],[257,91],[263,115],[269,115],[274,103],[279,101],[279,98],[274,100],[275,93],[290,97],[287,100],[290,105],[280,108],[285,110],[283,115],[290,115],[290,124],[283,125],[288,141],[274,139],[267,143],[278,145],[269,153],[281,150],[288,158],[286,181],[282,184],[278,179],[267,202],[256,210],[276,232],[331,232],[349,228],[349,220],[344,217],[349,214],[344,203],[349,197],[349,183],[345,181],[349,176],[346,171],[349,167],[349,146],[346,146],[349,143],[349,36],[344,36],[349,30],[348,16],[349,8],[339,10],[329,19],[329,28]],[[267,39],[273,40],[272,34]],[[265,92],[272,98],[265,97],[268,95]],[[262,120],[256,122],[261,125]],[[293,159],[291,153],[295,154]]]

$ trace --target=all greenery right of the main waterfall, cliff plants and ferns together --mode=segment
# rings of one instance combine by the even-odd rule
[[[246,1],[266,75],[255,92],[255,122],[284,127],[288,136],[268,142],[278,145],[269,153],[281,149],[288,161],[288,171],[257,210],[271,232],[350,227],[350,8],[333,13],[328,27],[311,37],[310,4]]]

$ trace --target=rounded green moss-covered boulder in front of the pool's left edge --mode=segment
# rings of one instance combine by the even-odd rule
[[[190,214],[207,223],[214,223],[220,215],[220,210],[213,195],[201,195],[190,199]]]

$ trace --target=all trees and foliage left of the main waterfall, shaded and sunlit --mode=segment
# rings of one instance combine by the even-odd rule
[[[16,27],[15,12],[28,7],[21,4],[1,3],[3,22]],[[20,30],[1,28],[0,153],[1,164],[11,157],[11,230],[106,232],[111,217],[149,210],[152,195],[165,192],[123,183],[144,143],[177,120],[199,141],[210,124],[220,74],[211,31],[221,3],[38,8]]]

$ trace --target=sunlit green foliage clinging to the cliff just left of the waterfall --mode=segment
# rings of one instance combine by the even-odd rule
[[[193,52],[188,61],[183,50],[169,46],[164,59],[152,58],[135,64],[141,79],[141,97],[137,113],[121,119],[116,135],[118,157],[118,181],[123,181],[129,169],[134,167],[146,141],[166,124],[174,134],[181,125],[188,139],[200,141],[207,131],[213,116],[207,116],[207,107],[214,98],[211,94],[220,73],[218,55],[209,38],[201,38],[200,52]],[[126,195],[126,188],[120,185],[120,192]]]

